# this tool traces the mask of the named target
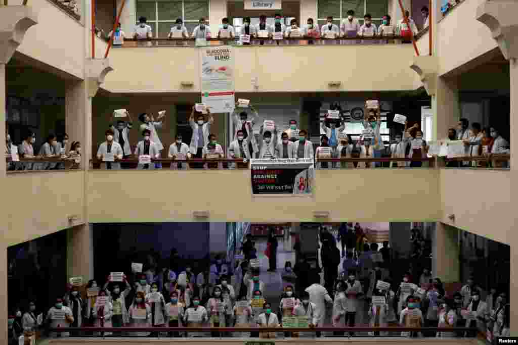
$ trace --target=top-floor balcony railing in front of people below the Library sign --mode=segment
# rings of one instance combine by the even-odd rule
[[[308,44],[333,44],[333,45],[349,45],[349,44],[392,44],[400,43],[401,37],[341,37],[336,39],[328,38],[310,38],[310,37],[284,37],[281,40],[272,38],[250,38],[250,46],[272,46],[272,45],[299,45],[307,46]],[[239,36],[235,38],[207,38],[207,46],[242,46]],[[125,38],[122,44],[123,48],[135,47],[195,47],[196,40],[194,38],[149,38],[149,39],[133,39]]]

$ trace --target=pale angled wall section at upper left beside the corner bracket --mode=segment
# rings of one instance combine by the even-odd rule
[[[9,1],[20,5],[21,0]],[[38,24],[28,29],[18,51],[42,63],[83,78],[84,26],[47,0],[32,0]]]

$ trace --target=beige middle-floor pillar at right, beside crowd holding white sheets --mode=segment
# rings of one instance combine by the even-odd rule
[[[434,140],[448,138],[448,130],[455,128],[461,118],[456,82],[437,77],[436,94],[431,97],[431,109],[434,112]]]

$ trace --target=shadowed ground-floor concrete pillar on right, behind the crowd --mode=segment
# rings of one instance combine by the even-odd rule
[[[461,279],[458,229],[444,223],[437,223],[432,238],[433,260],[431,271],[443,282],[458,282]]]

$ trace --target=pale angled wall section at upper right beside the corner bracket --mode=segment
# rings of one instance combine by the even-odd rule
[[[487,26],[476,20],[477,7],[483,2],[465,1],[436,25],[439,75],[497,47]]]

